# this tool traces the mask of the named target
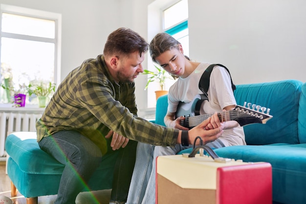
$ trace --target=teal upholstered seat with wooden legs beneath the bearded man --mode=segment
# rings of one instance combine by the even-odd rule
[[[108,145],[109,151],[83,191],[111,189],[118,151],[111,150],[110,140]],[[27,204],[38,204],[39,196],[57,194],[65,166],[39,148],[35,132],[10,134],[5,140],[5,150],[10,156],[7,174],[11,180],[12,197],[18,190]]]

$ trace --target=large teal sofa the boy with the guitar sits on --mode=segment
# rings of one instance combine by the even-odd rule
[[[306,83],[283,80],[237,85],[234,95],[238,105],[250,102],[270,108],[273,117],[266,124],[243,127],[247,145],[215,152],[223,158],[271,163],[273,203],[306,204]],[[158,98],[153,122],[165,125],[167,106],[167,95]]]

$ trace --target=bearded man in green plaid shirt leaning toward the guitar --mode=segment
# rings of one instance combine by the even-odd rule
[[[192,143],[197,136],[208,141],[222,134],[222,128],[204,130],[210,119],[182,132],[137,117],[134,79],[143,72],[147,51],[146,41],[131,29],[113,31],[103,55],[72,70],[46,106],[36,125],[39,145],[66,165],[55,204],[75,203],[83,182],[87,183],[108,151],[105,138],[112,137],[112,149],[120,151],[110,198],[113,204],[126,202],[135,141],[174,146],[181,141]]]

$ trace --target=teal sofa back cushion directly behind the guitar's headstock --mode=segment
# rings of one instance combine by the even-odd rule
[[[234,92],[238,105],[244,102],[270,108],[273,116],[266,124],[244,126],[247,144],[299,143],[298,109],[302,82],[283,80],[237,85]]]

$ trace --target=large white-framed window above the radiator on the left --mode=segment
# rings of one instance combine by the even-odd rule
[[[10,77],[18,90],[31,81],[57,83],[61,15],[1,4],[0,83]],[[7,102],[0,88],[0,103]]]

